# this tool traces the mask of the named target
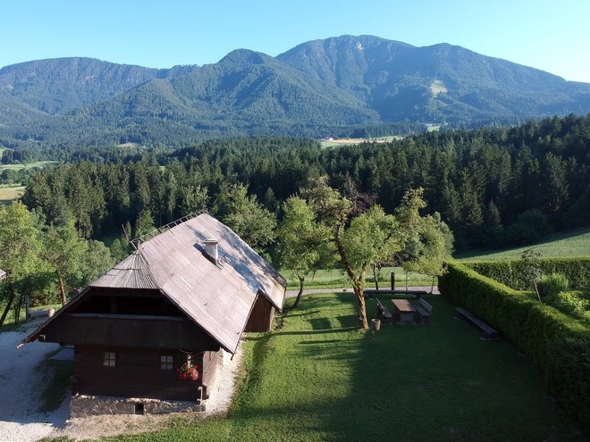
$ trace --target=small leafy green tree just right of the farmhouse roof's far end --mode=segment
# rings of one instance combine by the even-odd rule
[[[283,218],[277,229],[278,262],[295,272],[299,293],[292,308],[297,308],[306,276],[318,268],[331,267],[334,250],[330,230],[316,221],[316,214],[306,201],[291,196],[283,204]]]

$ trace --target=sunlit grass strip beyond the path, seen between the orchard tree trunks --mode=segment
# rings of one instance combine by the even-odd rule
[[[406,286],[406,272],[401,267],[384,267],[379,276],[379,288],[392,287],[392,271],[395,273],[395,288],[401,289]],[[299,288],[299,279],[292,271],[281,271],[287,279],[288,288]],[[413,271],[409,272],[408,286],[431,286],[433,278]],[[319,270],[315,275],[308,275],[305,279],[304,288],[350,288],[350,279],[340,269]],[[367,273],[366,288],[375,288],[373,272]]]

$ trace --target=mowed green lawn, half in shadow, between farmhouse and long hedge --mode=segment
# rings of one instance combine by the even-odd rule
[[[279,329],[247,338],[248,374],[227,418],[108,440],[585,440],[526,356],[427,299],[430,324],[384,325],[371,338],[352,296],[304,296]]]

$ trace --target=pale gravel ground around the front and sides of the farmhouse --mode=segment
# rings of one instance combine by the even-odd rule
[[[0,333],[0,442],[35,441],[41,438],[67,436],[74,440],[96,439],[117,434],[135,434],[162,429],[175,415],[94,416],[69,419],[70,394],[53,413],[38,413],[38,404],[46,379],[39,377],[38,364],[46,355],[59,348],[57,344],[38,341],[15,348],[21,339],[38,326],[40,321],[30,322],[19,331]],[[238,378],[242,350],[236,355],[223,354],[223,363],[217,371],[211,389],[211,399],[206,400],[205,413],[187,413],[195,421],[208,416],[226,413],[232,403],[235,382]]]

